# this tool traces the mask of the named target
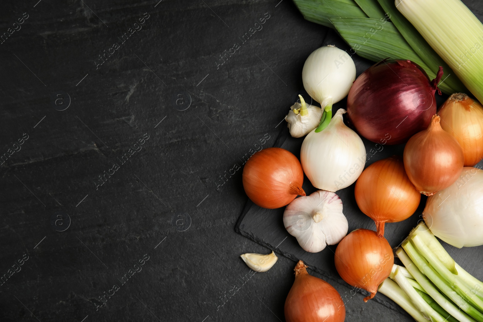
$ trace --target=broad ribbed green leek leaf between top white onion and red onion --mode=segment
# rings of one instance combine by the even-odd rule
[[[436,78],[438,69],[429,68],[391,22],[360,17],[330,18],[329,20],[342,38],[353,48],[349,54],[355,52],[372,61],[381,61],[388,57],[409,59],[421,66],[430,80]],[[445,93],[454,93],[446,82],[440,84],[439,87]]]

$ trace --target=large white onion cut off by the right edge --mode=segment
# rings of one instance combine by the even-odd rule
[[[455,183],[427,198],[423,217],[431,232],[450,245],[483,245],[483,170],[463,168]]]

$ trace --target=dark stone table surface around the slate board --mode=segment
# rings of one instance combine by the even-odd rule
[[[290,0],[37,1],[1,5],[0,321],[284,321],[295,263],[249,274],[269,251],[221,177],[327,28]],[[362,297],[346,321],[411,321]]]

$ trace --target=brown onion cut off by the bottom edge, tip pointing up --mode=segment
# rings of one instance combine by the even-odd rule
[[[285,300],[286,322],[343,322],[345,306],[341,295],[325,280],[309,275],[298,261],[295,281]]]

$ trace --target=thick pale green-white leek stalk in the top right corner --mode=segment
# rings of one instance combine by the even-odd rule
[[[483,24],[460,0],[396,0],[396,8],[483,102]]]

